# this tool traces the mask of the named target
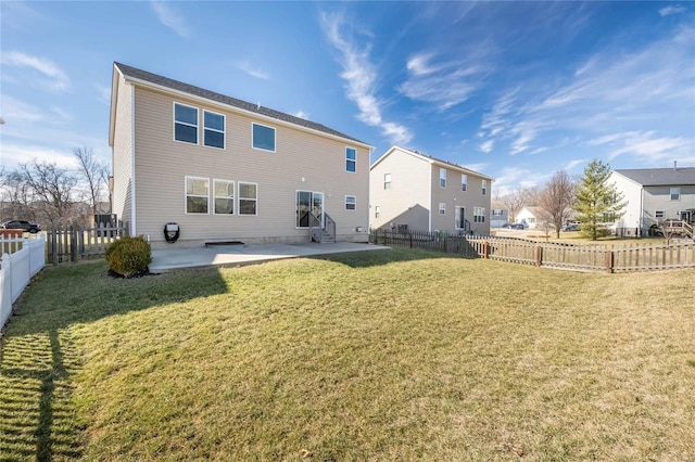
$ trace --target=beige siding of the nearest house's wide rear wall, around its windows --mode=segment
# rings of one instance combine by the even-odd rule
[[[174,141],[174,102],[199,108],[199,145]],[[202,115],[225,115],[225,150],[202,145]],[[204,241],[301,242],[308,231],[295,229],[295,191],[325,194],[325,211],[337,222],[337,239],[366,241],[368,226],[369,152],[366,147],[307,133],[281,125],[276,128],[276,152],[255,150],[252,123],[267,120],[236,114],[216,105],[173,98],[136,88],[136,189],[138,233],[153,243],[164,241],[163,228],[177,222],[179,243]],[[345,147],[357,152],[357,171],[345,171]],[[208,178],[208,215],[186,214],[185,177]],[[235,181],[235,215],[214,215],[213,179]],[[257,183],[257,215],[239,216],[238,183]],[[344,196],[357,197],[357,209],[344,209]],[[362,227],[364,231],[355,231]]]

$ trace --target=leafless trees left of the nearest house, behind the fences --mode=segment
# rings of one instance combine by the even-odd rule
[[[91,147],[76,147],[73,155],[74,169],[36,158],[0,168],[0,220],[88,226],[90,216],[111,214],[110,166]]]

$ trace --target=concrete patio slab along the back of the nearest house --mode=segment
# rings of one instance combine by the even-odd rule
[[[166,271],[193,267],[232,267],[281,258],[309,257],[344,252],[383,251],[389,247],[374,244],[339,242],[336,244],[258,244],[216,245],[194,248],[163,248],[152,251],[150,271]]]

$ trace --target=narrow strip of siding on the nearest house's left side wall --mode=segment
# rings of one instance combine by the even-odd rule
[[[131,171],[131,136],[132,136],[132,87],[117,75],[117,97],[112,146],[113,166],[113,213],[117,219],[132,224],[130,184]]]

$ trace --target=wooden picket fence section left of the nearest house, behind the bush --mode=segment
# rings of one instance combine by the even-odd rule
[[[109,244],[125,233],[125,228],[117,227],[53,228],[46,232],[46,259],[58,265],[101,257]]]

